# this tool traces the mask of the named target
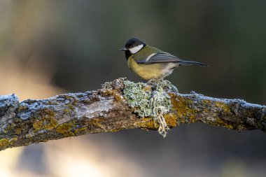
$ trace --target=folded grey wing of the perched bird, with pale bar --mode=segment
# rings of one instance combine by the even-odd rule
[[[146,59],[137,61],[138,64],[181,62],[183,60],[167,52],[157,52],[149,55]]]

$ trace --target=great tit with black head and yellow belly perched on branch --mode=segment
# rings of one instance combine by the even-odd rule
[[[200,62],[179,59],[158,48],[153,48],[135,37],[130,38],[125,43],[125,48],[120,50],[125,51],[128,67],[142,79],[149,80],[149,83],[169,76],[179,66],[207,66]]]

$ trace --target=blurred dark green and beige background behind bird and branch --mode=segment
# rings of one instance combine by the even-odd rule
[[[266,104],[266,1],[0,0],[0,94],[43,99],[127,77],[128,38],[210,67],[176,69],[185,94]],[[200,123],[165,139],[140,129],[0,152],[0,176],[265,176],[266,135]]]

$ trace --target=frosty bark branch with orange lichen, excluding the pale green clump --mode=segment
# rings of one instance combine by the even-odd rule
[[[125,80],[117,79],[97,91],[62,94],[50,99],[18,101],[15,94],[0,96],[0,150],[68,136],[120,129],[158,129],[151,118],[139,118],[124,97]],[[144,88],[151,90],[151,85]],[[266,132],[266,107],[240,99],[215,99],[195,92],[166,90],[172,110],[165,120],[172,128],[204,122],[239,131]]]

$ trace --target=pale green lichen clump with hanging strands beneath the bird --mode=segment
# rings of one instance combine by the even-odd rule
[[[146,117],[153,120],[153,122],[150,120],[141,122],[141,125],[158,128],[158,132],[165,137],[169,127],[164,115],[169,113],[172,104],[171,97],[164,89],[177,91],[176,87],[167,80],[160,80],[153,85],[124,80],[124,84],[124,97],[129,106],[135,108],[134,113],[141,118]]]

